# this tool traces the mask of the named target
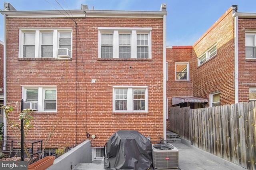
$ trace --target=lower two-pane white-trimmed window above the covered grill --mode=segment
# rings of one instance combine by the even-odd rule
[[[148,87],[113,86],[113,112],[148,112]]]

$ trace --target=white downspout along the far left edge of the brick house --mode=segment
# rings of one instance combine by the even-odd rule
[[[6,14],[4,14],[4,106],[6,106]],[[6,117],[4,116],[4,136],[7,136],[7,121]],[[3,140],[7,140],[3,139]],[[5,146],[5,145],[4,145]]]

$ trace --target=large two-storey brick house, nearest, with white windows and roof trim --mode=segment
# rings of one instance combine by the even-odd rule
[[[66,11],[1,11],[6,103],[14,106],[24,99],[24,106],[34,109],[27,139],[45,141],[60,121],[47,147],[89,139],[92,160],[97,160],[117,130],[165,138],[166,8],[82,7],[66,16]],[[19,108],[14,109],[10,118],[16,120]],[[15,140],[9,128],[6,133]]]

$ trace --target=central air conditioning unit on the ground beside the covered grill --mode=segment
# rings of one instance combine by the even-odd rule
[[[157,169],[179,168],[179,150],[169,143],[152,145],[153,166]]]

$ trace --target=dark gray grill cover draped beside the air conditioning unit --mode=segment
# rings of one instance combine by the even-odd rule
[[[118,130],[107,141],[104,169],[147,170],[152,164],[152,144],[137,130]]]

